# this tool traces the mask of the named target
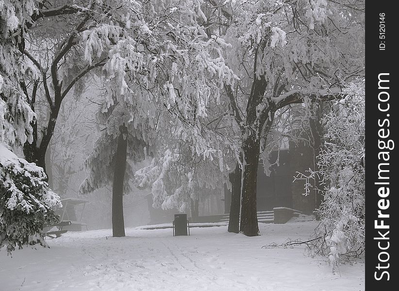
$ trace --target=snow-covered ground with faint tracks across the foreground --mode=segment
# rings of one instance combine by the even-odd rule
[[[68,232],[50,249],[0,251],[0,291],[364,291],[364,262],[341,265],[333,275],[305,247],[261,248],[287,238],[306,240],[316,222],[260,224],[261,236],[227,232],[227,226],[127,228]]]

